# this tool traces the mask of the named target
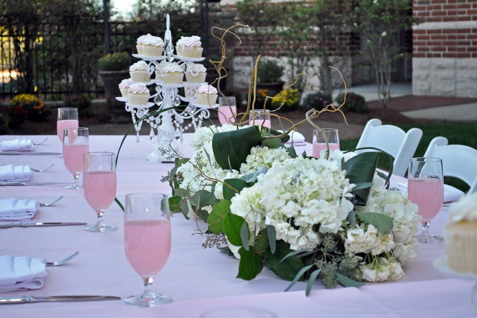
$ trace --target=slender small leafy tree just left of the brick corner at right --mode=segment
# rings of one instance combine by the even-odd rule
[[[384,108],[391,95],[391,64],[399,57],[399,32],[416,22],[409,0],[359,0],[348,21],[361,35],[361,54],[373,67]]]

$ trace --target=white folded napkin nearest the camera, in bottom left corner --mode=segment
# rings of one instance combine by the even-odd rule
[[[46,259],[28,256],[0,256],[0,292],[39,289],[48,275]]]

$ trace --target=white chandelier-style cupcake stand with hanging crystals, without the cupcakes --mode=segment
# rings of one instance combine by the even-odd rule
[[[166,30],[164,34],[164,50],[162,56],[150,57],[139,54],[133,54],[133,57],[140,59],[148,63],[148,72],[150,75],[153,73],[162,74],[159,62],[166,60],[167,62],[175,62],[182,67],[182,72],[185,72],[187,63],[194,63],[203,61],[205,58],[187,58],[173,54],[174,47],[172,46],[172,35],[169,29],[170,18],[169,14],[166,15]],[[192,75],[197,76],[198,68],[193,64],[195,70],[192,70]],[[200,85],[206,85],[207,82],[195,83],[184,81],[181,84],[166,84],[159,79],[151,79],[148,82],[144,82],[145,85],[156,85],[156,93],[149,98],[153,101],[148,102],[147,105],[133,105],[130,104],[127,98],[116,97],[117,100],[126,103],[126,111],[131,113],[131,118],[136,130],[136,142],[139,143],[139,131],[141,130],[143,122],[138,122],[138,119],[150,113],[150,108],[158,106],[159,109],[166,109],[172,106],[179,106],[181,102],[185,102],[184,109],[171,109],[166,112],[160,113],[158,116],[151,116],[146,121],[151,126],[151,132],[149,137],[154,140],[157,138],[158,146],[147,156],[147,160],[153,162],[168,161],[159,149],[168,149],[169,145],[174,151],[179,152],[179,145],[182,144],[182,133],[186,130],[194,127],[194,130],[201,127],[204,119],[210,118],[210,108],[217,108],[219,104],[214,105],[201,105],[196,102],[197,88]],[[179,88],[184,88],[185,96],[178,93]],[[184,120],[190,120],[191,122],[185,127],[183,126]],[[155,133],[157,130],[157,134]]]

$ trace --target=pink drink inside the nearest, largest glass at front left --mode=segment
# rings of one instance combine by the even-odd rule
[[[126,221],[124,223],[124,249],[129,264],[141,277],[156,276],[169,257],[169,221]]]

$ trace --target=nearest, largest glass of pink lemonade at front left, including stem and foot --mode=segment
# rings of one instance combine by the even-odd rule
[[[124,250],[129,264],[144,282],[143,294],[128,297],[125,303],[139,307],[170,303],[169,296],[154,293],[151,286],[170,252],[169,201],[165,194],[126,195]]]

